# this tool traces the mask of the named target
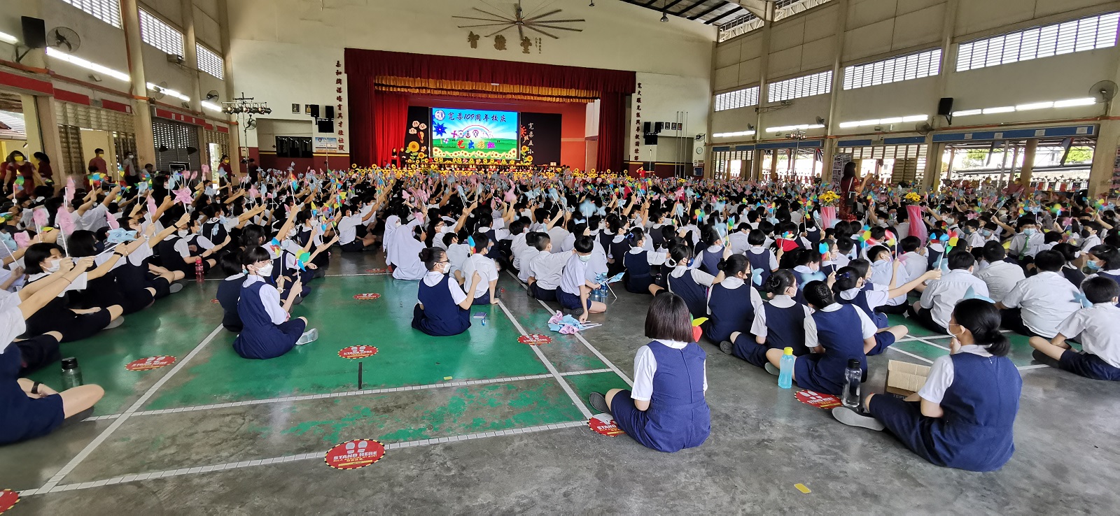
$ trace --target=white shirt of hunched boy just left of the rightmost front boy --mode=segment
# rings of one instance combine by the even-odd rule
[[[1004,298],[1004,306],[1021,309],[1023,323],[1030,331],[1052,339],[1057,335],[1058,325],[1081,309],[1077,293],[1077,288],[1064,275],[1042,271],[1015,285]]]

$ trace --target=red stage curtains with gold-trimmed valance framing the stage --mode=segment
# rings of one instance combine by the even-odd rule
[[[634,72],[357,48],[346,49],[345,66],[355,163],[389,162],[392,150],[405,146],[408,95],[426,94],[544,102],[598,98],[596,168],[623,169],[625,97],[634,93]]]

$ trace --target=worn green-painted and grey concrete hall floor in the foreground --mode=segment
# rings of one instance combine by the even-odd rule
[[[381,266],[371,254],[335,262],[329,274]],[[404,282],[319,280],[295,311],[325,330],[320,341],[253,363],[230,358],[232,335],[215,331],[220,315],[208,299],[216,282],[188,287],[129,317],[121,329],[64,349],[80,356],[87,381],[105,384],[100,419],[0,448],[0,489],[22,490],[11,514],[84,516],[1111,514],[1120,501],[1120,457],[1109,444],[1120,438],[1117,386],[1034,367],[1018,338],[1012,359],[1025,368],[1017,449],[1000,471],[930,465],[889,434],[844,426],[828,411],[797,402],[796,390],[778,390],[773,376],[710,344],[711,437],[697,449],[666,454],[587,428],[586,406],[572,402],[532,348],[510,343],[521,330],[547,332],[549,312],[511,278],[501,285],[516,323],[501,307],[483,309],[487,326],[476,322],[451,343],[421,339],[401,329],[407,320],[393,320],[413,302],[396,295],[408,292]],[[363,287],[385,293],[371,302],[381,306],[361,308],[368,317],[355,315],[351,299],[370,291]],[[575,373],[562,376],[563,385],[580,400],[592,390],[625,386],[612,365],[629,376],[634,351],[646,343],[648,297],[619,295],[607,315],[592,318],[605,326],[584,334],[601,358],[557,334],[539,348],[557,373]],[[355,394],[354,364],[330,356],[339,343],[377,346],[379,355],[364,359],[363,387],[388,391]],[[937,347],[944,344],[923,336],[871,357],[865,388],[881,391],[888,359],[925,364],[946,353]],[[158,354],[177,356],[181,367],[142,374],[122,367]],[[452,379],[441,379],[449,372]],[[57,383],[54,376],[36,377]],[[456,382],[472,383],[447,385]],[[416,385],[424,388],[407,390]],[[214,404],[223,405],[208,406]],[[465,439],[427,441],[458,437]],[[360,438],[384,442],[385,458],[351,471],[324,465],[334,443]],[[46,492],[44,485],[56,487]]]

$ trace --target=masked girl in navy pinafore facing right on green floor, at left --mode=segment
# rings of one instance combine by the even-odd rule
[[[272,259],[262,247],[246,248],[241,257],[249,275],[241,284],[237,315],[243,328],[233,341],[233,350],[242,358],[276,358],[293,347],[315,341],[319,331],[307,328],[307,319],[298,317],[289,320],[288,312],[302,285],[299,280],[288,289],[288,299],[280,304],[280,291],[269,283],[272,275]],[[283,279],[280,280],[283,282]]]

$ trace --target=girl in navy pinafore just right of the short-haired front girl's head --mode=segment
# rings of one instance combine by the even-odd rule
[[[746,256],[728,256],[724,260],[724,281],[708,290],[708,320],[701,326],[712,343],[724,343],[736,331],[750,331],[755,309],[763,304],[763,298],[750,284],[749,268]]]

